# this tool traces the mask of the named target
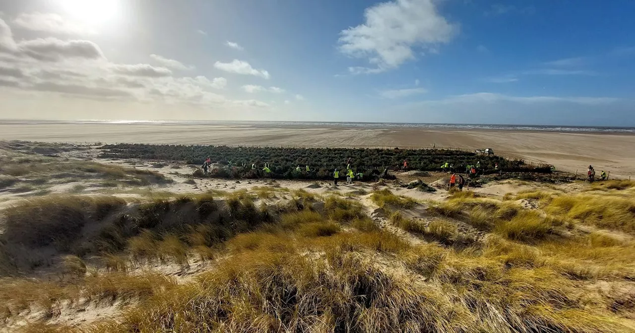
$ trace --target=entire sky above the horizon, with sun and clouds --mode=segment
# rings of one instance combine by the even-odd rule
[[[632,0],[0,0],[0,119],[635,126]]]

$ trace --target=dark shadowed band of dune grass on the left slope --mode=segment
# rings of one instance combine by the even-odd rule
[[[128,206],[117,197],[50,196],[25,200],[5,211],[0,235],[2,275],[28,271],[59,254],[187,264],[190,247],[209,257],[213,247],[236,233],[273,221],[278,209],[256,207],[243,193],[222,207],[210,194],[157,197]],[[47,254],[50,253],[50,254]],[[112,260],[110,260],[112,261]],[[121,263],[109,264],[113,269]]]

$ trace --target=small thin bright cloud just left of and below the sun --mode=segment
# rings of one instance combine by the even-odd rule
[[[22,13],[13,23],[22,29],[50,34],[85,35],[95,34],[94,30],[70,22],[62,16],[54,13]]]

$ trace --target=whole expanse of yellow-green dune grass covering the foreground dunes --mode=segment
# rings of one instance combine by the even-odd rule
[[[596,295],[587,287],[598,278],[635,279],[635,243],[610,232],[559,237],[573,216],[549,210],[558,197],[547,213],[470,194],[451,197],[446,208],[431,211],[490,232],[482,243],[459,249],[446,246],[460,242],[451,219],[425,226],[393,212],[394,225],[441,243],[415,246],[380,230],[354,200],[329,196],[322,210],[315,208],[318,197],[289,195],[301,204],[257,207],[245,192],[224,202],[187,195],[133,207],[110,199],[104,199],[110,206],[51,201],[69,214],[52,215],[64,221],[74,211],[82,212],[84,225],[100,217],[91,242],[111,249],[97,252],[104,268],[95,271],[88,260],[69,256],[60,283],[4,278],[0,313],[14,320],[30,309],[55,318],[62,306],[86,300],[126,304],[121,315],[79,329],[43,322],[22,328],[29,333],[633,332],[629,294]],[[31,211],[43,204],[17,209],[15,221],[38,216]],[[59,228],[52,224],[35,226]],[[35,239],[32,246],[46,243]],[[95,249],[78,245],[69,248]],[[132,270],[133,259],[186,264],[194,256],[213,258],[213,268],[180,283]]]

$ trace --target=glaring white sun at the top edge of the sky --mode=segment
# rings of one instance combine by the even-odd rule
[[[104,23],[119,14],[119,0],[58,0],[73,18],[89,23]]]

